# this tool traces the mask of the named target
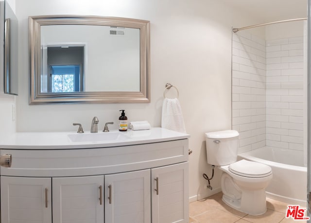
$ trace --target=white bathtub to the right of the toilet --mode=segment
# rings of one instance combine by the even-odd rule
[[[238,154],[246,159],[269,165],[273,178],[266,188],[268,198],[289,205],[307,206],[307,168],[303,165],[303,151],[261,147]]]

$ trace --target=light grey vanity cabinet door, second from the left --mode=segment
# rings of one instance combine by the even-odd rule
[[[53,177],[53,223],[103,223],[104,176]]]

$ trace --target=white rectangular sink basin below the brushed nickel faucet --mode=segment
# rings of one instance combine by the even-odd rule
[[[129,138],[121,132],[77,133],[68,137],[72,142],[122,141]]]

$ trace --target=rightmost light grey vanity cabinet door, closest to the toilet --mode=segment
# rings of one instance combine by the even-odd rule
[[[151,170],[153,223],[188,223],[188,162]]]

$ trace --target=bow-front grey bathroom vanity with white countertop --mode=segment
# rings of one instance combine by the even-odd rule
[[[0,168],[1,222],[186,223],[189,137],[16,133],[0,142],[12,154]]]

